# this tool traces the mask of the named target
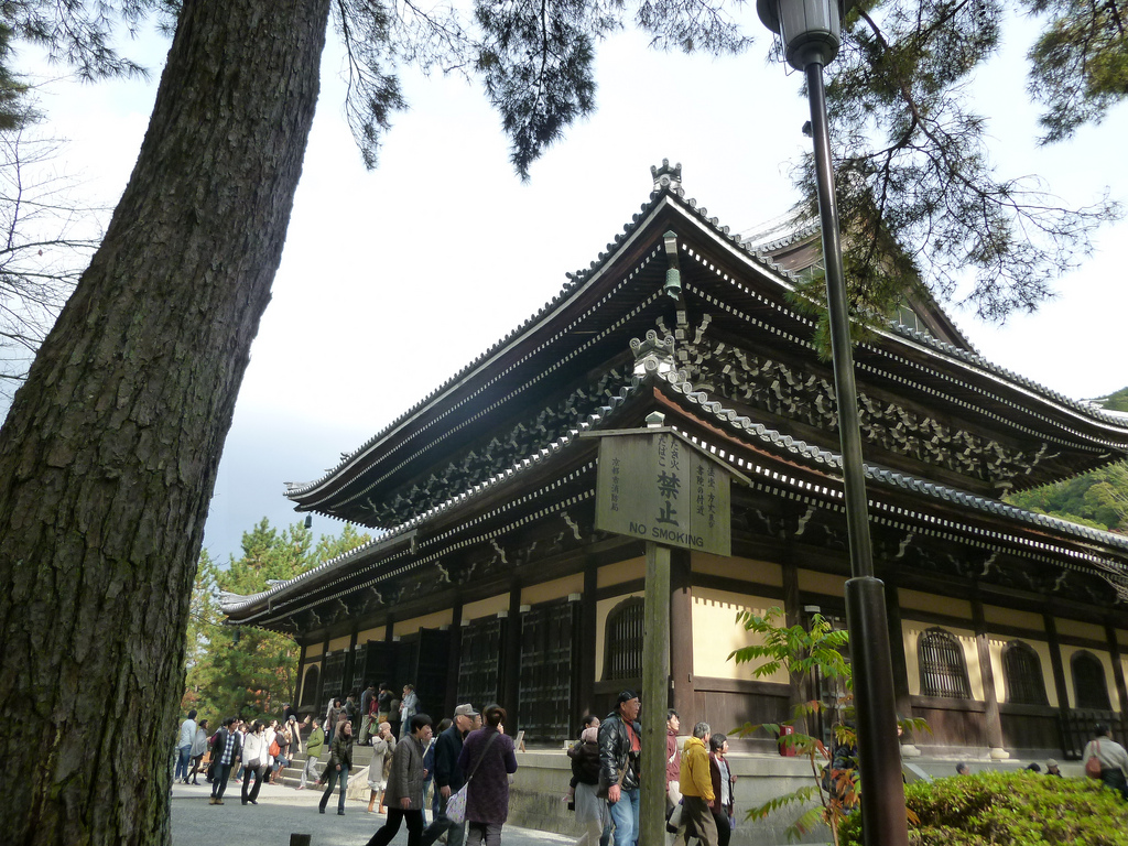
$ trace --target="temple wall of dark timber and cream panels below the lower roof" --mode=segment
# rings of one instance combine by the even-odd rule
[[[841,693],[814,681],[793,689],[783,672],[757,678],[752,666],[729,660],[750,642],[735,622],[741,610],[778,607],[788,625],[818,611],[845,626],[845,576],[781,557],[672,556],[670,704],[684,732],[699,720],[725,733],[778,722],[799,702]],[[583,714],[608,713],[620,689],[641,684],[645,567],[636,555],[570,566],[564,575],[559,566],[545,571],[543,581],[522,573],[525,583],[513,579],[509,590],[462,605],[412,607],[403,618],[389,609],[356,620],[351,636],[305,644],[301,707],[321,711],[331,690],[363,680],[397,693],[413,681],[437,720],[458,702],[496,700],[534,744],[574,737]],[[908,741],[969,758],[985,750],[1070,758],[1098,721],[1123,738],[1128,631],[916,587],[887,580],[898,710],[932,729]],[[829,725],[809,730],[827,734]],[[763,732],[732,746],[774,749]]]

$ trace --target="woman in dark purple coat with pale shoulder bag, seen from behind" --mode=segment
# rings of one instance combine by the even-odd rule
[[[491,705],[483,713],[485,725],[462,742],[458,767],[466,779],[466,846],[500,846],[501,829],[509,819],[509,776],[517,772],[513,741],[505,735],[505,708]],[[450,805],[447,805],[450,816]]]

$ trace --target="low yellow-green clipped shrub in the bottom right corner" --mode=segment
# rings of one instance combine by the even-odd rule
[[[1126,846],[1128,803],[1100,782],[1033,773],[979,773],[905,788],[909,846]],[[860,814],[843,846],[862,843]]]

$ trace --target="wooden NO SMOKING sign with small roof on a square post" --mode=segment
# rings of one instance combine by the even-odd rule
[[[663,416],[600,438],[596,528],[646,541],[642,647],[642,800],[638,843],[666,845],[666,711],[670,690],[670,548],[732,554],[730,481],[737,476]]]

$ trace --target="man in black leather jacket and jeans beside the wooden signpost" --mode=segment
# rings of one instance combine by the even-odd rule
[[[599,795],[606,795],[611,808],[615,846],[632,846],[638,839],[638,695],[624,690],[615,711],[599,724]]]

